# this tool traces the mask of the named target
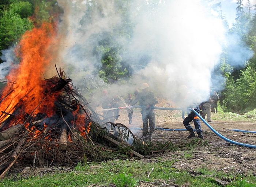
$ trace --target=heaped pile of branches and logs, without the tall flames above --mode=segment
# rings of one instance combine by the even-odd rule
[[[136,153],[124,145],[128,139],[132,139],[133,145],[140,144],[131,130],[123,124],[99,118],[64,71],[60,69],[57,72],[58,76],[42,80],[44,97],[31,113],[26,112],[28,103],[24,99],[30,92],[17,102],[11,112],[6,108],[0,109],[0,178],[11,167],[16,170],[29,165],[72,167],[81,161],[108,160],[122,157],[125,152],[130,152],[131,156]],[[8,94],[12,91],[15,88]],[[8,94],[2,93],[0,104],[5,102]],[[38,110],[48,106],[53,106],[51,116],[44,110]],[[121,143],[112,141],[109,136],[114,135]],[[120,145],[116,147],[110,142]]]

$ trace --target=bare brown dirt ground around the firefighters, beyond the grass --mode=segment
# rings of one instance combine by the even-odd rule
[[[177,107],[171,102],[160,101],[156,106],[174,108]],[[180,110],[156,110],[156,127],[165,129],[184,129]],[[212,113],[212,116],[218,116],[218,113]],[[120,117],[115,123],[127,125],[137,137],[141,137],[142,119],[140,109],[134,109],[132,124],[128,124],[128,114],[125,109],[120,110]],[[256,145],[256,134],[234,132],[231,129],[256,131],[256,122],[246,121],[222,121],[214,120],[209,124],[224,137],[237,141],[239,143]],[[192,127],[194,128],[193,122]],[[146,162],[156,162],[161,158],[163,160],[176,160],[174,167],[178,170],[194,170],[196,168],[208,168],[209,170],[223,170],[225,172],[237,171],[240,173],[256,174],[256,149],[237,146],[221,139],[215,135],[202,121],[204,139],[208,141],[208,146],[199,147],[189,151],[161,152],[152,153],[145,158]],[[167,131],[157,130],[153,133],[153,141],[171,140],[173,144],[180,144],[187,140],[189,132],[187,131]]]

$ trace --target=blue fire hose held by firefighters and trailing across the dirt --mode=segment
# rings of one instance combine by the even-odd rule
[[[145,108],[146,106],[131,106],[131,107],[132,108]],[[181,110],[181,108],[162,108],[162,107],[155,107],[155,106],[150,106],[150,108],[158,109],[158,110]],[[227,142],[229,142],[231,144],[235,144],[235,145],[239,145],[239,146],[243,146],[243,147],[256,148],[256,145],[243,144],[243,143],[239,143],[237,141],[233,141],[233,140],[227,139],[226,137],[224,137],[220,133],[218,133],[214,128],[212,128],[211,125],[209,125],[206,122],[206,120],[204,120],[204,118],[202,118],[202,116],[199,115],[199,113],[197,113],[195,110],[193,110],[191,108],[188,108],[188,109],[192,110],[192,112],[194,112],[196,114],[196,116],[198,116],[200,118],[200,120],[202,120],[204,122],[204,124],[206,124],[208,126],[208,128],[210,128],[212,130],[212,132],[214,132],[216,135],[221,137],[223,140],[225,140],[225,141],[227,141]],[[184,130],[184,129],[169,129],[169,130]],[[233,129],[233,131],[256,133],[255,131],[238,130],[238,129]]]

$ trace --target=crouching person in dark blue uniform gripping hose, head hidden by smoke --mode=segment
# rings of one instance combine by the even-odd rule
[[[193,96],[190,92],[188,92],[188,88],[185,85],[181,85],[179,90],[181,92],[181,96],[183,96],[183,98],[184,98],[184,103],[183,103],[183,107],[184,107],[185,105],[191,103],[191,101],[193,100]],[[200,112],[200,109],[199,109],[199,106],[198,106],[197,103],[192,104],[188,108],[192,108],[197,113]],[[196,133],[197,133],[198,137],[200,139],[203,139],[204,137],[203,137],[203,130],[201,129],[200,118],[198,116],[196,116],[196,114],[192,111],[183,120],[183,125],[190,132],[190,135],[188,136],[188,139],[196,137],[196,134],[194,133],[192,126],[189,124],[191,121],[194,121],[194,125],[195,125],[195,128],[196,128]]]

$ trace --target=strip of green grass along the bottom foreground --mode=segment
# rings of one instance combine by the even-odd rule
[[[185,155],[189,155],[187,152]],[[188,156],[190,157],[190,156]],[[230,170],[230,173],[222,171],[208,171],[205,168],[194,170],[197,176],[192,176],[188,171],[178,171],[173,167],[174,160],[161,161],[152,159],[150,163],[144,160],[112,160],[102,163],[78,164],[72,172],[47,174],[41,176],[29,176],[27,179],[19,175],[11,179],[4,179],[0,186],[5,187],[52,187],[52,186],[90,186],[91,184],[109,185],[115,183],[117,187],[137,186],[140,180],[159,182],[174,180],[173,182],[182,185],[190,183],[192,187],[219,187],[214,178],[230,182],[227,187],[252,187],[256,186],[256,177],[242,176]],[[152,171],[152,168],[153,171]],[[147,178],[151,172],[149,179]],[[59,171],[60,172],[60,171]],[[212,176],[211,176],[212,175]],[[230,181],[231,180],[231,181]]]

